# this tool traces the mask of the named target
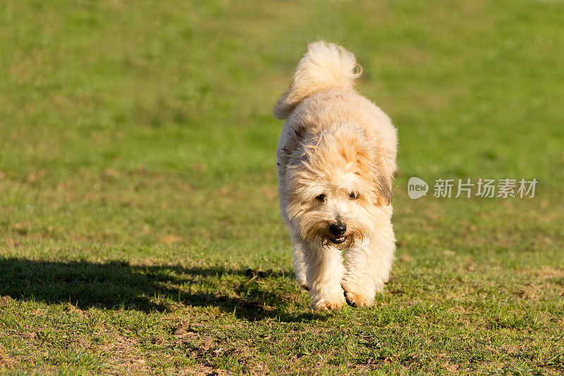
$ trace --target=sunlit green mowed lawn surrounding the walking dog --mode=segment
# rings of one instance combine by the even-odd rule
[[[563,373],[563,20],[561,1],[2,2],[0,373]],[[399,131],[396,263],[369,309],[309,309],[278,214],[270,111],[321,38]],[[433,198],[437,178],[538,183]]]

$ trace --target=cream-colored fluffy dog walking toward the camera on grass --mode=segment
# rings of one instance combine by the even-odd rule
[[[355,56],[343,47],[309,44],[273,111],[287,119],[276,152],[278,195],[295,279],[318,309],[372,305],[396,248],[396,128],[353,90],[358,76]]]

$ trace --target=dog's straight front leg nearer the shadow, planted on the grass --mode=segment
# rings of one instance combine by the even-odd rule
[[[312,298],[312,308],[318,310],[342,308],[345,304],[341,279],[345,274],[341,250],[307,243],[307,285]]]

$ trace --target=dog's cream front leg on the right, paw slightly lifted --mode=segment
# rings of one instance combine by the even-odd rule
[[[395,248],[390,226],[388,236],[363,241],[347,251],[347,272],[341,286],[349,305],[369,307],[374,304],[374,296],[384,290],[388,281]]]

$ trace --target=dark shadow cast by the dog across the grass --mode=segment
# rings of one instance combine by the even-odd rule
[[[225,267],[129,265],[127,262],[36,261],[0,258],[0,296],[44,303],[72,303],[78,308],[164,312],[182,306],[216,306],[241,320],[277,317],[285,322],[324,320],[325,315],[281,309],[299,293],[266,289],[261,279],[289,274]],[[228,280],[229,293],[221,291]],[[286,284],[288,281],[286,281]],[[204,291],[202,291],[204,290]],[[294,301],[294,302],[293,302]]]

